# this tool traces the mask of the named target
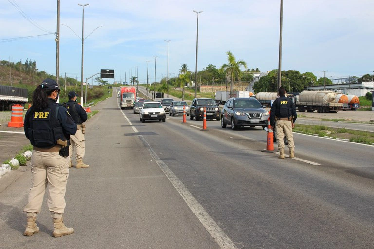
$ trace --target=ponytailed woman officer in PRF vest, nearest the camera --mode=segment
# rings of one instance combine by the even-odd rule
[[[68,111],[56,103],[60,89],[56,81],[45,79],[33,93],[33,106],[25,116],[25,134],[33,145],[31,172],[33,186],[28,196],[27,226],[23,235],[39,232],[37,213],[48,186],[48,208],[54,223],[54,237],[73,233],[65,227],[62,215],[65,210],[66,183],[69,176],[69,137],[75,134],[76,124]]]

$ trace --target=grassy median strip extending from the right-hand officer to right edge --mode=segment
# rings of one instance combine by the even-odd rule
[[[301,125],[296,124],[293,130],[297,133],[330,137],[334,139],[346,139],[351,142],[374,145],[374,132],[357,131],[346,128],[332,128],[325,125]]]

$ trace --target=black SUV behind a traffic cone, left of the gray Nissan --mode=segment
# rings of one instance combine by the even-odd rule
[[[192,100],[192,104],[189,108],[189,118],[196,121],[203,119],[204,107],[206,110],[206,119],[217,119],[220,120],[220,107],[214,101],[214,99],[208,98],[196,98]]]

